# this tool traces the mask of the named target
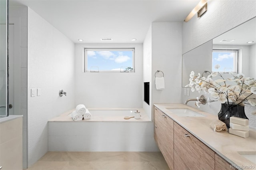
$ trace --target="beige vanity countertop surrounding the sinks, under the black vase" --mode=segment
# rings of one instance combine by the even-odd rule
[[[256,168],[256,164],[250,162],[238,152],[256,152],[256,131],[250,129],[248,138],[242,138],[233,134],[214,132],[210,127],[212,121],[218,120],[217,115],[212,115],[200,111],[194,107],[184,104],[154,104],[158,109],[164,112],[168,117],[173,119],[180,126],[196,136],[201,142],[206,144],[214,152],[222,156],[232,165],[246,166],[251,165]],[[188,108],[196,111],[205,117],[179,117],[166,108]],[[249,120],[250,121],[250,120]]]

